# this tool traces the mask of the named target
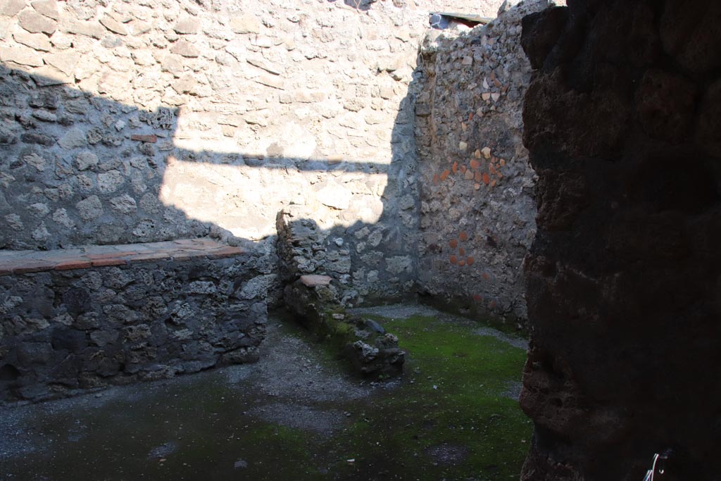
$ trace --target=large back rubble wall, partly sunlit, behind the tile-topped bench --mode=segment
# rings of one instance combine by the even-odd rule
[[[6,1],[0,248],[263,239],[296,204],[415,272],[428,12],[497,3]]]

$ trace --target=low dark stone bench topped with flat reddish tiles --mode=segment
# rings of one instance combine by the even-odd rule
[[[0,401],[256,361],[273,267],[205,238],[0,251]]]

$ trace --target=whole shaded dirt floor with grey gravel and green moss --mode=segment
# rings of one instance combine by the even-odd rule
[[[426,306],[357,312],[402,379],[350,376],[274,316],[260,362],[0,409],[4,480],[510,480],[531,424],[525,340]]]

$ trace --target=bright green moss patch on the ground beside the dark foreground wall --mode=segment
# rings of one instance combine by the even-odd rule
[[[532,428],[507,392],[525,351],[475,334],[469,322],[376,319],[409,355],[402,387],[374,400],[367,426],[357,426],[379,447],[363,446],[373,464],[396,464],[418,480],[517,477]],[[355,436],[340,437],[352,444]]]

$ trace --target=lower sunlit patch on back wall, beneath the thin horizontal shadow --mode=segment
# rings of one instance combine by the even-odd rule
[[[305,206],[322,229],[375,224],[386,184],[385,174],[209,164],[170,156],[159,198],[190,219],[257,240],[275,234],[276,214],[291,204]]]

